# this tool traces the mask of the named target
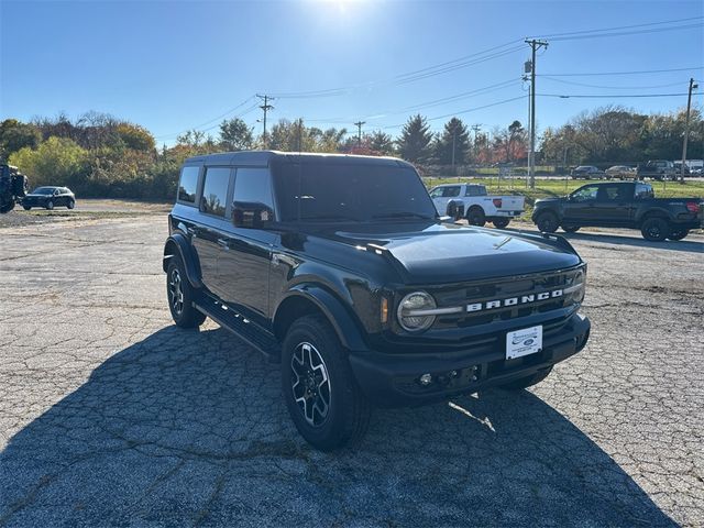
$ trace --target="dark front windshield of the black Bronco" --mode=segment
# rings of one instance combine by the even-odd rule
[[[415,170],[393,165],[324,162],[274,167],[282,221],[435,219]]]

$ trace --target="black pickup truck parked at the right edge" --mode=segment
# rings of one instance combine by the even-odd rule
[[[702,198],[654,198],[641,182],[590,184],[563,198],[537,200],[532,221],[542,232],[559,227],[569,233],[581,227],[640,229],[646,240],[682,240],[702,227]]]

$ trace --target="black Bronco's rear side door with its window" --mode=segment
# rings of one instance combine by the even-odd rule
[[[218,258],[226,245],[229,222],[226,219],[230,167],[207,167],[204,175],[199,209],[200,221],[194,226],[193,246],[198,254],[202,283],[213,294],[222,295]]]

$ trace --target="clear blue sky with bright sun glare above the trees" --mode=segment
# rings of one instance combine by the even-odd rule
[[[0,0],[0,118],[29,120],[59,111],[75,118],[98,110],[140,123],[160,144],[172,144],[176,133],[190,128],[215,127],[211,132],[217,133],[218,120],[213,118],[254,94],[344,87],[328,97],[276,98],[270,119],[302,117],[308,124],[349,130],[353,121],[363,119],[365,130],[386,127],[386,132],[396,135],[400,128],[393,125],[414,113],[409,108],[519,80],[529,48],[524,44],[517,52],[410,82],[399,82],[399,75],[525,36],[696,16],[704,16],[702,1]],[[537,61],[539,75],[694,69],[538,77],[537,91],[607,96],[684,92],[690,77],[704,80],[703,22],[620,30],[698,24],[676,31],[548,38],[550,46],[539,52]],[[509,50],[512,46],[498,51]],[[526,90],[527,85],[519,81],[499,85],[417,111],[435,118],[520,98]],[[695,101],[701,105],[702,96]],[[609,103],[663,112],[685,102],[682,96],[539,97],[537,123],[539,129],[559,125],[583,110]],[[239,116],[253,105],[249,100],[227,116]],[[521,98],[458,117],[486,130],[514,119],[526,123],[527,113],[527,99]],[[258,109],[251,109],[242,119],[261,131],[256,123],[260,117]],[[444,121],[437,119],[431,124],[438,130]]]

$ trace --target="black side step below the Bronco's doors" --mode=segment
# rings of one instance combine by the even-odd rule
[[[201,295],[194,302],[194,306],[222,328],[230,330],[242,341],[262,352],[270,363],[280,363],[282,348],[279,342],[258,324],[207,294]]]

